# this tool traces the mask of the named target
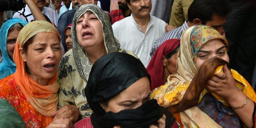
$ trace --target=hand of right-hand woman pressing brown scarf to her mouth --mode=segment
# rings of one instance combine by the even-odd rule
[[[212,76],[205,87],[227,101],[241,93],[227,65],[223,66],[223,73]]]

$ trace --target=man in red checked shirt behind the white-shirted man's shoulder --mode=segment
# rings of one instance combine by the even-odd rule
[[[131,10],[129,9],[126,0],[118,0],[118,8],[119,9],[112,10],[110,12],[112,17],[112,24],[125,17],[131,16]]]

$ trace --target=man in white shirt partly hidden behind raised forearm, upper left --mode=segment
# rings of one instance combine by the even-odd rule
[[[45,0],[33,0],[33,2],[38,6],[39,10],[44,15],[46,15],[56,26],[58,25],[58,14],[55,12],[55,10],[44,6]],[[21,18],[21,19],[26,20],[26,18],[23,15],[20,15],[20,13],[23,12],[23,9],[18,12],[16,12],[13,15],[13,18]],[[26,16],[26,15],[30,15],[30,14],[31,14],[31,11],[30,11],[28,5],[26,5],[24,15]],[[28,22],[30,22],[32,19],[34,19],[34,17],[31,14],[30,16],[27,17],[27,19],[28,19]]]

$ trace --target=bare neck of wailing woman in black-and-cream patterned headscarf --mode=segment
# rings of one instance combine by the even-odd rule
[[[95,52],[98,51],[98,52]],[[91,48],[91,49],[86,49],[87,55],[89,57],[89,60],[91,62],[91,64],[93,65],[95,63],[95,61],[97,59],[99,59],[100,57],[102,57],[103,55],[106,55],[106,48],[105,46],[103,48]]]

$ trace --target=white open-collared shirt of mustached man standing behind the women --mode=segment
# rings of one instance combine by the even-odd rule
[[[151,15],[144,33],[131,15],[115,22],[112,28],[115,38],[120,42],[120,48],[135,53],[147,67],[151,60],[150,50],[153,43],[165,34],[165,26],[166,23],[163,20]]]

